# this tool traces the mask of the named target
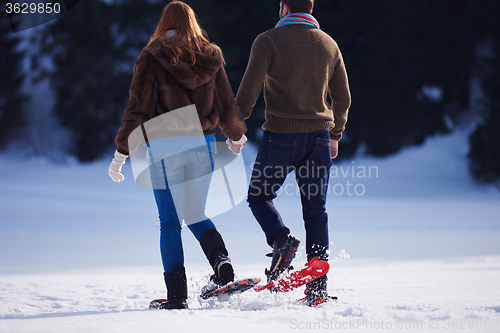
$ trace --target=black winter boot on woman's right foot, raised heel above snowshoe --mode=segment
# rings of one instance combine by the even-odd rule
[[[233,266],[220,233],[216,229],[208,229],[201,235],[200,245],[214,269],[215,274],[210,279],[218,285],[234,281]]]

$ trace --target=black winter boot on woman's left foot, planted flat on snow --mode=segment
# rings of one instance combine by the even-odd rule
[[[172,273],[163,273],[167,285],[167,301],[161,309],[187,309],[187,279],[184,266],[175,267]]]

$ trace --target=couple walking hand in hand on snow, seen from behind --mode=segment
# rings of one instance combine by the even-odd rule
[[[236,98],[223,68],[222,51],[208,41],[194,11],[181,1],[172,1],[164,8],[155,33],[135,63],[130,100],[109,167],[111,178],[123,180],[121,167],[133,150],[127,141],[130,133],[136,127],[144,131],[145,122],[169,111],[194,104],[209,147],[204,153],[174,154],[175,159],[167,154],[149,161],[160,216],[166,308],[187,308],[183,219],[214,269],[213,282],[224,285],[234,280],[220,233],[209,218],[199,217],[204,216],[210,177],[190,182],[196,188],[184,185],[184,192],[180,193],[169,183],[174,178],[196,178],[213,171],[214,151],[210,143],[215,141],[217,126],[228,138],[229,149],[234,154],[241,152],[246,141],[244,119],[250,117],[263,83],[265,131],[247,201],[273,249],[271,267],[266,269],[268,280],[276,279],[290,266],[299,244],[290,236],[273,204],[276,191],[291,170],[296,171],[301,190],[307,259],[319,256],[328,260],[328,169],[337,156],[338,141],[347,122],[350,92],[340,50],[320,30],[311,15],[313,6],[314,0],[280,2],[280,20],[275,28],[255,39]],[[304,169],[305,172],[299,172]],[[174,201],[179,200],[183,201],[182,211],[175,209]],[[309,283],[307,303],[326,301],[326,287],[326,276]]]

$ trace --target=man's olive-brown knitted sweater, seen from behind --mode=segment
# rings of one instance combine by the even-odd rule
[[[329,35],[306,25],[287,25],[257,36],[236,96],[245,119],[262,83],[264,129],[276,133],[329,130],[332,139],[342,138],[351,94],[342,55]]]

